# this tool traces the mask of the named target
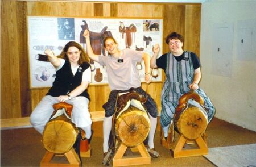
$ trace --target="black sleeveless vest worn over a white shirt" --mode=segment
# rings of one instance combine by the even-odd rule
[[[56,72],[55,81],[53,82],[51,89],[49,89],[46,95],[58,97],[60,95],[66,95],[67,93],[71,92],[77,86],[81,85],[82,73],[89,67],[90,64],[84,62],[79,66],[74,76],[71,70],[70,62],[66,60],[63,67]],[[90,99],[87,89],[78,96],[83,96]]]

